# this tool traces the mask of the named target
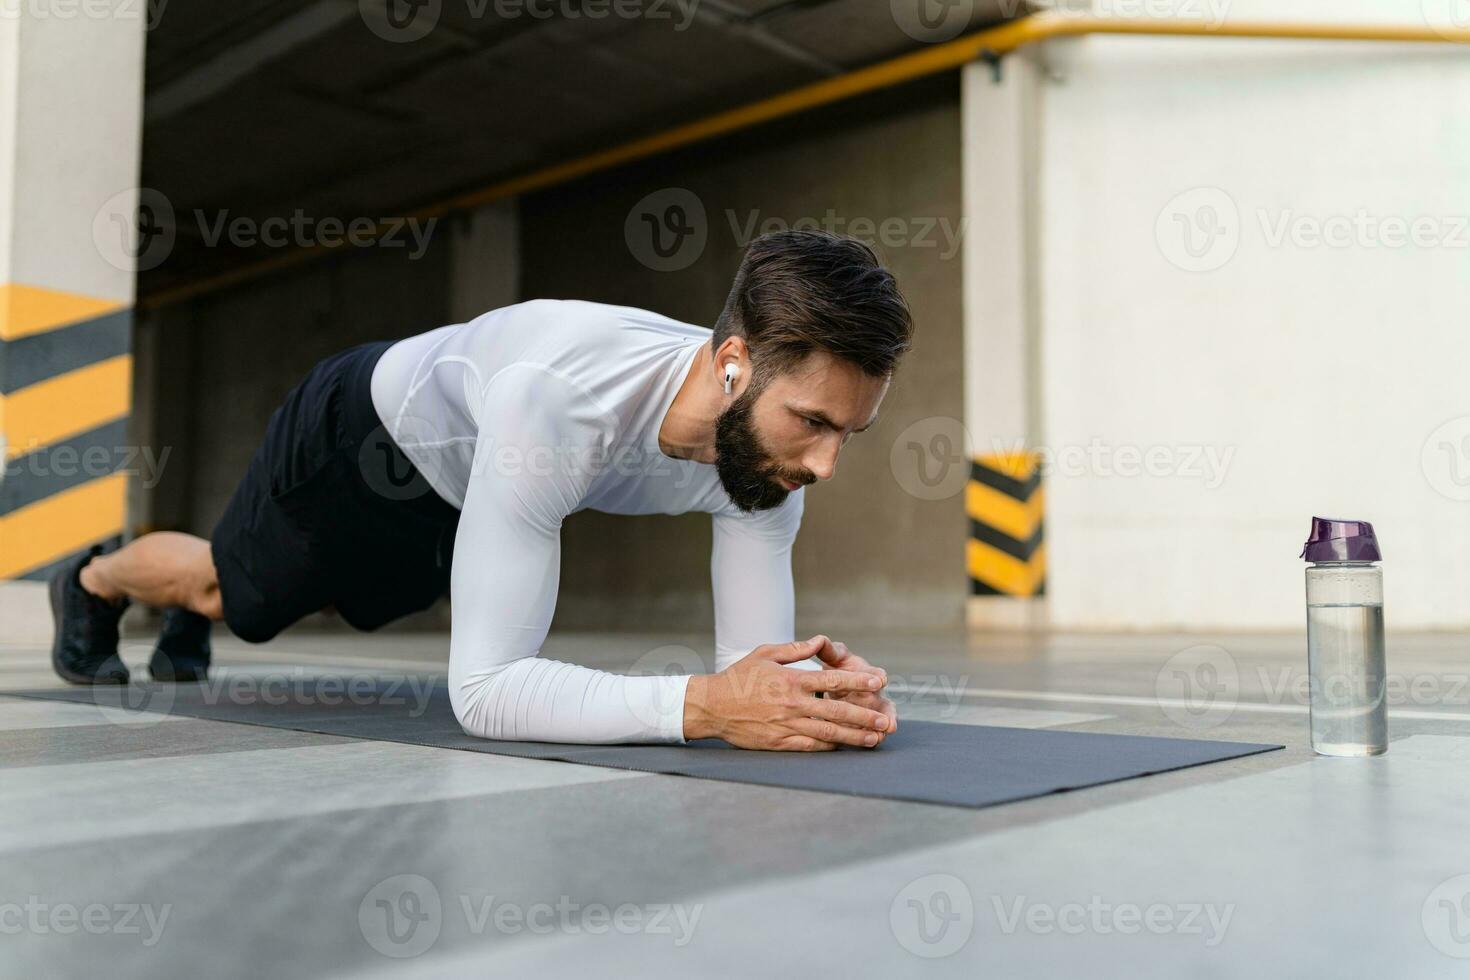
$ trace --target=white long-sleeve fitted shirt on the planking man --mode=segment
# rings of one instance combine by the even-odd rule
[[[625,677],[538,657],[567,514],[713,514],[716,669],[794,639],[803,491],[738,510],[714,466],[659,429],[710,331],[656,313],[535,300],[394,344],[372,376],[388,432],[460,508],[450,698],[470,735],[682,742],[686,676]]]

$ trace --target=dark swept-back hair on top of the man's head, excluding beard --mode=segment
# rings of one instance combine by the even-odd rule
[[[894,275],[856,238],[820,231],[761,235],[745,250],[714,347],[745,338],[754,381],[813,351],[848,360],[875,378],[892,373],[913,338]]]

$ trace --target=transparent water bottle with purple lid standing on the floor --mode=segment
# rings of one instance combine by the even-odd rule
[[[1319,755],[1388,751],[1383,569],[1373,525],[1311,519],[1307,567],[1307,666],[1311,748]]]

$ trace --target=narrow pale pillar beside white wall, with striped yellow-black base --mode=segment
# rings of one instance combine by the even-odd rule
[[[1039,69],[1026,54],[963,78],[967,620],[1045,621],[1038,392]]]

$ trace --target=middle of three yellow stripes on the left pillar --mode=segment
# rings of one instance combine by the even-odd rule
[[[69,370],[0,397],[4,458],[34,453],[79,432],[128,414],[132,401],[132,356]]]

